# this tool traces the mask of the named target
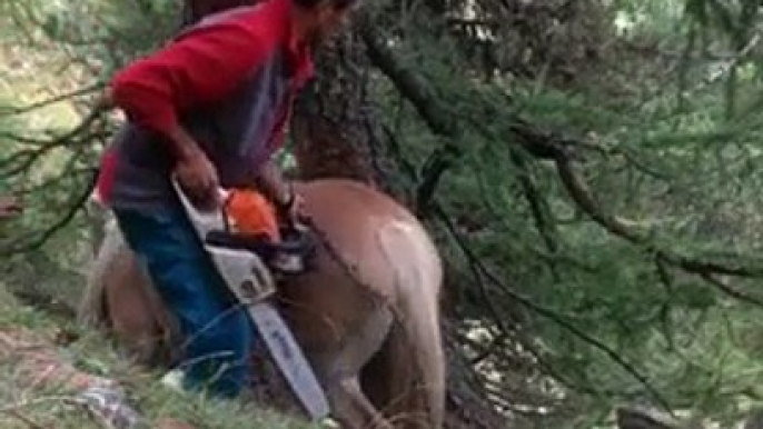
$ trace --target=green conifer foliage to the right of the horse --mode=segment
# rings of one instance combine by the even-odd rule
[[[730,31],[733,21],[734,31],[741,31],[751,23],[744,14],[750,10],[708,9],[712,20],[697,22],[696,4],[683,6],[615,2],[611,16],[632,24],[607,42],[612,49],[596,61],[597,70],[573,84],[554,83],[553,72],[559,70],[487,84],[449,78],[453,59],[423,52],[454,51],[435,48],[444,44],[426,34],[409,37],[399,49],[426,58],[420,72],[436,82],[454,117],[468,123],[468,137],[457,142],[466,154],[440,186],[440,199],[457,213],[475,253],[513,290],[506,293],[490,283],[489,307],[506,309],[508,319],[517,308],[514,293],[529,298],[606,345],[673,407],[729,422],[759,400],[751,396],[760,378],[755,347],[733,336],[761,328],[753,316],[760,308],[730,298],[701,276],[655,263],[648,247],[614,237],[582,214],[552,166],[531,162],[523,171],[508,150],[516,141],[511,127],[517,112],[541,127],[584,138],[596,148],[585,154],[585,177],[607,212],[627,219],[661,248],[761,267],[754,256],[762,201],[753,167],[760,157],[760,57],[755,48],[737,56],[743,47],[713,30]],[[697,34],[706,43],[692,44]],[[415,57],[402,57],[407,56]],[[399,117],[415,118],[409,110]],[[412,119],[402,132],[414,157],[430,144],[416,132],[417,124]],[[525,173],[546,207],[554,249],[523,194]],[[462,269],[470,271],[467,263]],[[755,280],[723,281],[732,290],[761,296]],[[484,301],[473,305],[499,330]],[[589,428],[600,419],[594,410],[605,411],[613,397],[655,399],[611,353],[558,320],[529,313],[526,329],[543,341],[546,363],[571,388],[571,401],[591,412],[575,427]],[[496,352],[496,366],[501,359],[506,355]],[[569,427],[566,416],[561,425]]]

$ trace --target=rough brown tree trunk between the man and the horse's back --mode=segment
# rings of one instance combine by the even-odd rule
[[[317,79],[300,93],[291,121],[299,177],[346,178],[386,188],[368,99],[368,61],[346,31],[317,52]]]

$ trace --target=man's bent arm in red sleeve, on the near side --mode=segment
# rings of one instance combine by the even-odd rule
[[[224,99],[266,60],[277,32],[261,12],[191,30],[132,62],[111,81],[109,102],[133,122],[167,137],[178,156],[196,153],[199,149],[180,127],[178,113]]]

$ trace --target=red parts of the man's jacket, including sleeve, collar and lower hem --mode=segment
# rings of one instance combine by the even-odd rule
[[[313,77],[314,66],[309,49],[295,39],[290,19],[291,0],[265,0],[256,7],[207,17],[162,49],[120,70],[111,81],[112,100],[132,124],[166,136],[184,113],[198,112],[237,97],[240,86],[252,79],[252,72],[268,70],[272,58],[277,56],[285,57],[291,70],[288,83],[291,90],[288,93],[294,96]],[[291,101],[289,99],[279,106],[274,117],[275,126],[266,138],[267,142],[262,142],[270,150],[283,144]],[[212,151],[217,144],[237,144],[227,141],[199,143]],[[99,178],[99,193],[105,201],[113,181],[123,187],[128,182],[160,173],[148,167],[153,158],[148,154],[153,151],[150,146],[145,142],[121,142],[105,157]],[[129,149],[132,147],[135,149]],[[130,157],[127,154],[129,151],[143,154]],[[146,180],[152,180],[155,184],[135,183],[143,187],[143,199],[148,198],[148,193],[159,192],[158,176]],[[128,199],[137,198],[128,196],[135,194],[135,190],[122,193]],[[153,200],[158,198],[158,193],[152,197]]]

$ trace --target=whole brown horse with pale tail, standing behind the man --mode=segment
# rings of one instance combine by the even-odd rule
[[[443,426],[443,270],[418,220],[370,187],[301,182],[323,238],[310,271],[280,285],[287,323],[346,428]],[[111,225],[81,308],[145,361],[175,343],[172,317]],[[170,338],[167,341],[167,338]]]

